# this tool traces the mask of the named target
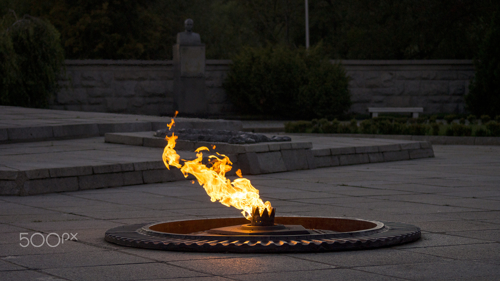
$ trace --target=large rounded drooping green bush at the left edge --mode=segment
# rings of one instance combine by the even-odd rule
[[[48,21],[29,15],[16,20],[7,14],[1,27],[0,104],[45,107],[59,90],[64,61],[59,33]]]

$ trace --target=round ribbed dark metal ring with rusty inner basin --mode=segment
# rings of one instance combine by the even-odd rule
[[[180,251],[302,252],[389,246],[420,237],[420,227],[402,222],[345,217],[279,216],[276,223],[300,224],[308,235],[220,235],[215,227],[243,224],[243,217],[143,222],[108,229],[105,239],[119,245]],[[291,223],[290,223],[291,222]]]

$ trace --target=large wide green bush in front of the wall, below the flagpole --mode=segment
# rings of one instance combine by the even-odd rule
[[[320,45],[245,47],[233,62],[223,87],[240,112],[333,119],[350,107],[345,71]]]

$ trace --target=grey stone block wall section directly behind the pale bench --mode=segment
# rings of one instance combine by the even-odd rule
[[[423,113],[462,113],[463,95],[474,75],[471,60],[343,60],[351,77],[350,110],[423,107]]]

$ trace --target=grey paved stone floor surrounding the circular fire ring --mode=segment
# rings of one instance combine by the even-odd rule
[[[295,170],[248,178],[276,215],[409,222],[420,240],[358,251],[175,252],[104,241],[113,226],[238,216],[189,180],[0,196],[0,280],[498,280],[500,147],[434,145],[434,158]],[[23,237],[72,233],[50,247]],[[69,236],[69,235],[68,235]],[[69,236],[71,237],[71,236]],[[57,244],[55,234],[48,238]],[[32,243],[39,245],[41,235]]]

